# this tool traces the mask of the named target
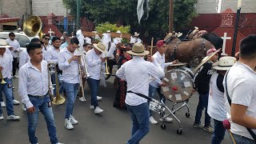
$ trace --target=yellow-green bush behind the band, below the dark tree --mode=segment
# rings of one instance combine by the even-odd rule
[[[106,33],[106,30],[116,32],[120,30],[122,34],[128,34],[130,32],[130,26],[117,26],[116,24],[110,24],[110,22],[101,23],[96,26],[95,30],[100,33]]]

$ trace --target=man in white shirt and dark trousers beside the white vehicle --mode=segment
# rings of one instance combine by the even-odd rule
[[[8,43],[10,47],[10,52],[13,55],[13,76],[14,78],[18,78],[16,75],[16,67],[17,67],[17,58],[18,58],[18,52],[21,46],[19,46],[18,41],[15,39],[15,34],[13,32],[10,32],[9,38],[6,39],[6,42]]]

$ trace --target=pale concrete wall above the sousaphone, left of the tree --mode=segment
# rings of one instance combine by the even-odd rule
[[[46,16],[52,11],[56,16],[66,15],[66,7],[62,0],[33,0],[33,15]]]

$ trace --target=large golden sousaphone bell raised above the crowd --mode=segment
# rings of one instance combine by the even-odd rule
[[[23,23],[24,34],[28,37],[38,36],[42,39],[42,20],[38,16],[30,16]]]

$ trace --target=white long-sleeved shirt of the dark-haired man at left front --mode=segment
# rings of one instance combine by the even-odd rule
[[[49,80],[47,62],[42,60],[41,71],[29,61],[18,71],[18,93],[27,108],[33,106],[28,95],[43,96],[48,93]]]

